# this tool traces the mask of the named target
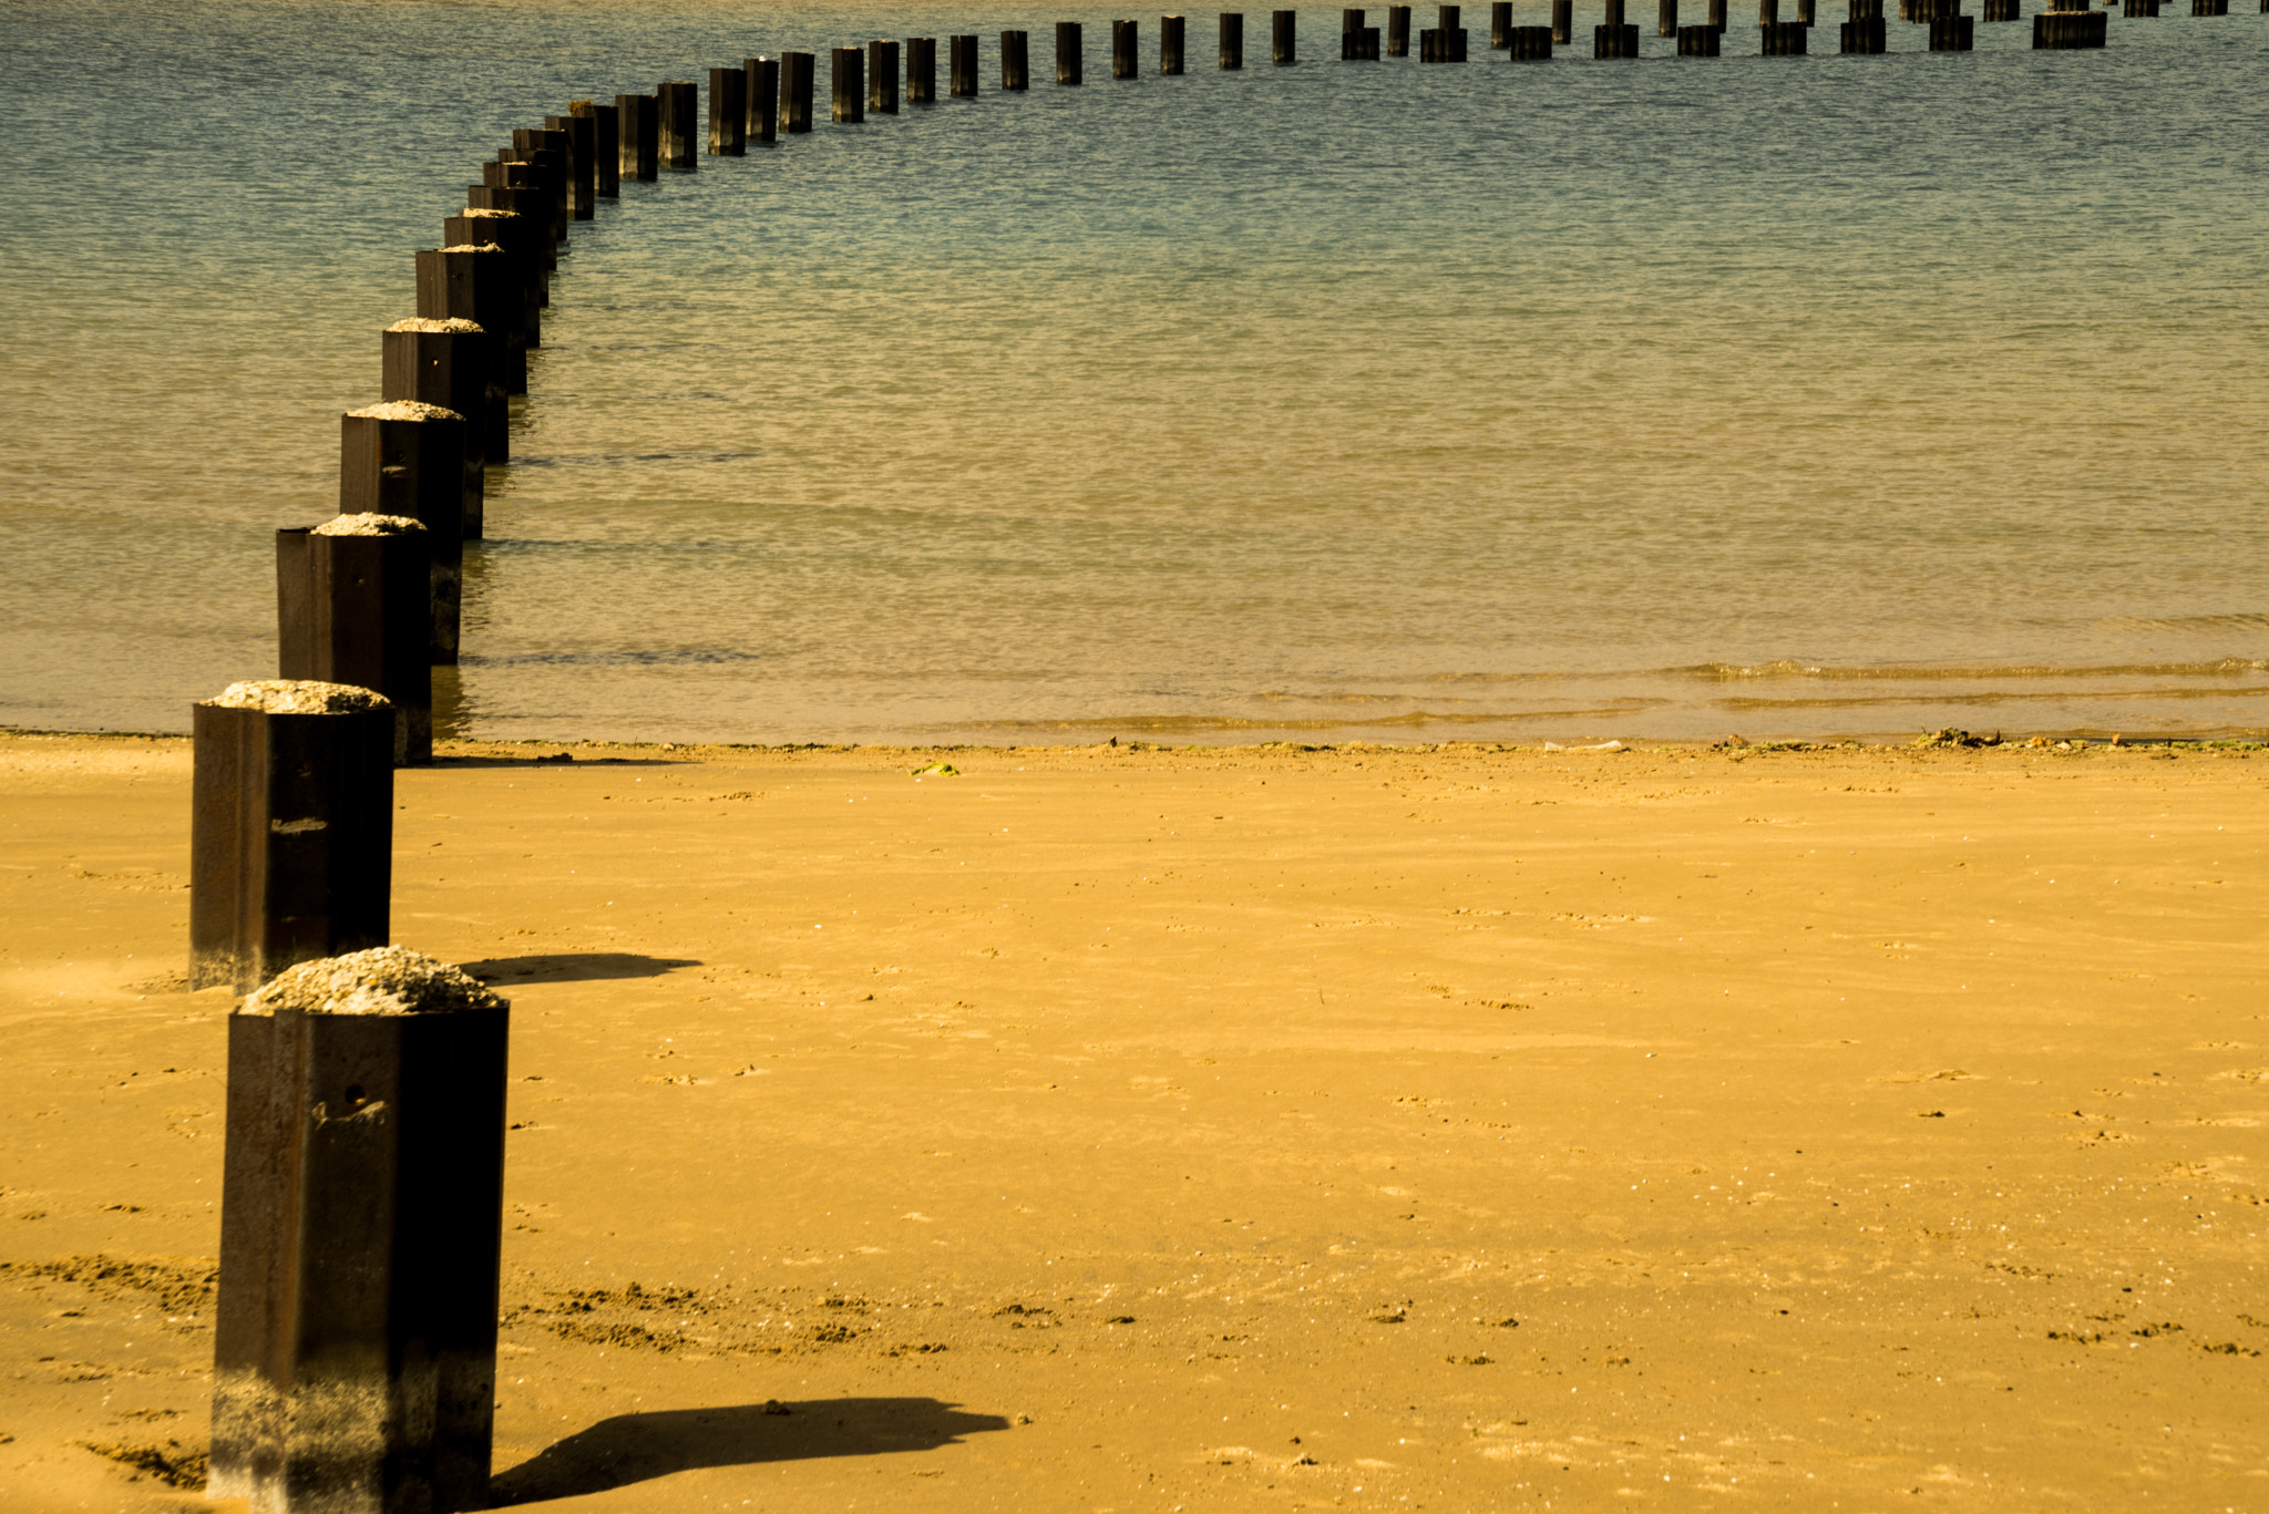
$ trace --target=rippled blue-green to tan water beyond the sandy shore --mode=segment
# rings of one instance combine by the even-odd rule
[[[1255,11],[1237,75],[1212,16],[1112,82],[1105,11],[9,0],[0,722],[272,672],[270,531],[513,125],[980,32],[978,100],[574,227],[456,731],[2269,729],[2269,16],[1271,68]]]

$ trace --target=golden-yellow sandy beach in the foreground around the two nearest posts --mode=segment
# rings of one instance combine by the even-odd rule
[[[188,756],[0,738],[11,1512],[216,1507]],[[397,804],[395,940],[513,1001],[499,1503],[2269,1507],[2269,756],[456,745]]]

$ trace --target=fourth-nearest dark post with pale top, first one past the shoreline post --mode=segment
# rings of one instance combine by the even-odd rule
[[[338,513],[408,515],[433,552],[429,656],[456,663],[465,579],[465,418],[390,399],[338,418]]]

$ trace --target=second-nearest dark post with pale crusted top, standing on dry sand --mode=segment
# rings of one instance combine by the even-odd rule
[[[188,985],[247,992],[293,962],[383,947],[386,699],[336,683],[231,683],[191,708],[191,731]]]

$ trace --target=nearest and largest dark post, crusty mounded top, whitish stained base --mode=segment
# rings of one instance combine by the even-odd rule
[[[213,1498],[488,1507],[506,1042],[501,999],[399,947],[229,1015]]]

